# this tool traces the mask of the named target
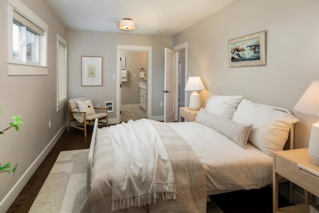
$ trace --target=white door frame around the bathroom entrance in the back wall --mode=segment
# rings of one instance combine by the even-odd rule
[[[145,52],[145,54],[147,55],[147,65],[146,67],[140,67],[138,70],[138,73],[136,72],[130,72],[129,67],[125,69],[122,69],[122,65],[123,63],[121,63],[121,53],[129,53],[129,52]],[[124,56],[124,55],[123,55]],[[127,60],[129,58],[126,58],[125,60]],[[147,99],[145,100],[145,105],[147,106],[147,115],[146,118],[150,119],[152,116],[152,46],[136,46],[136,45],[117,45],[117,92],[116,92],[116,100],[117,100],[117,104],[116,104],[116,121],[117,123],[121,122],[121,106],[122,106],[122,70],[126,70],[129,71],[127,72],[127,78],[129,79],[130,76],[132,78],[139,79],[141,78],[140,76],[140,70],[143,68],[144,70],[147,71],[147,80],[145,80],[146,82],[146,89],[147,89]],[[142,72],[143,70],[141,70]],[[130,79],[129,79],[130,80]],[[142,78],[141,81],[143,82]],[[128,81],[129,82],[129,81]],[[139,87],[140,88],[140,87]]]

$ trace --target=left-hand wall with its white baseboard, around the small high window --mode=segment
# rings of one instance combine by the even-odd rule
[[[45,1],[21,2],[48,24],[48,75],[7,75],[7,9],[6,1],[1,0],[0,108],[3,116],[0,115],[0,128],[3,130],[8,127],[13,115],[21,115],[25,126],[18,132],[12,129],[0,136],[1,165],[7,162],[18,164],[14,176],[0,173],[0,212],[5,212],[14,201],[57,141],[56,134],[64,130],[62,127],[66,122],[66,109],[56,112],[56,34],[66,39],[66,28]]]

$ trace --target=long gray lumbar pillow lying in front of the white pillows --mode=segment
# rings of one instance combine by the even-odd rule
[[[204,108],[199,110],[195,121],[218,131],[244,149],[246,149],[247,140],[253,126],[252,124],[236,123],[233,120],[209,113]]]

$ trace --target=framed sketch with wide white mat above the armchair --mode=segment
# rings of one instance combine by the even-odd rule
[[[82,86],[102,86],[102,57],[82,56]]]

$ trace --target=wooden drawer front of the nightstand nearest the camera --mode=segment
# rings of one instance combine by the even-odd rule
[[[298,186],[304,188],[306,191],[319,196],[319,177],[311,174],[310,172],[298,167],[298,164],[294,161],[290,161],[287,158],[277,155],[275,169],[276,172],[294,182]]]

